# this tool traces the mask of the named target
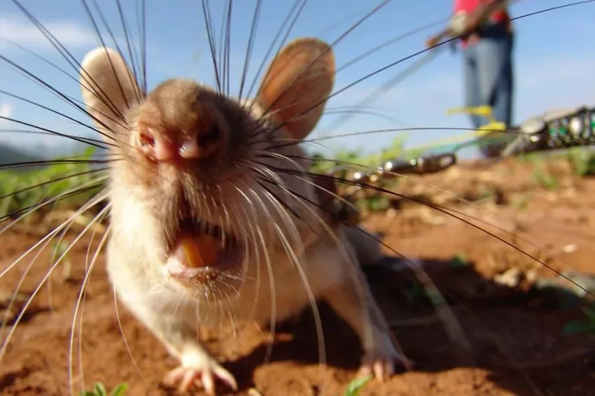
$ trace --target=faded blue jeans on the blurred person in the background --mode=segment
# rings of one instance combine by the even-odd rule
[[[512,42],[512,34],[496,25],[484,30],[477,43],[463,50],[465,105],[489,105],[493,117],[506,125],[512,121]],[[488,120],[482,117],[471,115],[476,129],[486,122]],[[497,155],[502,146],[502,143],[482,144],[479,149],[490,157]]]

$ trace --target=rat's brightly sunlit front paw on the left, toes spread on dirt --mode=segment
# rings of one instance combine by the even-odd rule
[[[228,370],[209,356],[196,355],[183,359],[182,365],[169,372],[163,382],[167,386],[177,385],[182,392],[188,392],[192,386],[202,385],[209,395],[215,395],[215,379],[237,390],[235,378]]]

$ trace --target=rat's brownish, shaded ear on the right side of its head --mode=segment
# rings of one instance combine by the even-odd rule
[[[256,103],[293,138],[304,139],[321,118],[334,82],[332,48],[316,38],[298,38],[269,66]]]

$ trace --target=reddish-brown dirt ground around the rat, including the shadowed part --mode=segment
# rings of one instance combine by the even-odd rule
[[[554,162],[547,164],[547,171],[553,175],[550,181],[558,183],[547,189],[535,177],[535,166],[519,160],[484,168],[461,165],[440,174],[407,178],[399,191],[516,229],[511,239],[510,234],[475,221],[478,227],[498,232],[554,269],[595,273],[591,258],[595,252],[591,245],[595,180],[573,176],[566,162]],[[473,203],[456,204],[447,192],[428,185]],[[460,346],[451,344],[432,306],[412,293],[411,274],[381,267],[367,269],[386,318],[416,368],[401,370],[385,383],[372,381],[361,395],[595,395],[595,337],[562,331],[569,320],[584,318],[580,305],[572,304],[570,294],[529,288],[535,276],[554,278],[553,271],[480,229],[417,204],[370,215],[365,225],[384,233],[385,243],[400,253],[426,260],[428,273],[449,301],[472,353],[461,353]],[[37,241],[44,234],[42,228],[21,227],[2,234],[0,268]],[[531,246],[522,238],[542,247]],[[95,242],[98,239],[96,236]],[[70,280],[60,281],[62,271],[58,269],[51,289],[41,290],[16,327],[0,367],[2,395],[69,394],[69,338],[86,252],[86,241],[78,243],[70,255]],[[465,255],[469,264],[449,265],[457,254]],[[125,339],[138,365],[138,370],[135,368],[120,333],[103,256],[100,258],[87,285],[82,370],[75,337],[76,386],[80,386],[82,372],[87,388],[94,381],[109,387],[127,381],[129,395],[174,395],[160,381],[176,362],[120,308]],[[1,279],[5,303],[28,262]],[[35,262],[22,285],[25,297],[45,275],[49,262],[45,252]],[[516,269],[525,276],[518,284],[507,287],[496,282],[498,274],[512,274]],[[267,334],[253,327],[247,327],[237,339],[225,333],[220,337],[207,334],[207,344],[235,374],[239,395],[258,394],[252,388],[262,395],[343,395],[356,374],[360,347],[351,330],[323,304],[321,314],[328,355],[328,364],[322,367],[317,365],[311,311],[278,328],[272,362],[266,365],[262,361]],[[6,339],[6,331],[1,338]],[[459,355],[468,359],[461,360]],[[475,363],[470,364],[469,358]],[[229,394],[226,392],[219,387],[220,395]]]

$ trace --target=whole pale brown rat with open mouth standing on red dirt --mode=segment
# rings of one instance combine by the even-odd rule
[[[295,41],[257,97],[239,104],[187,80],[144,94],[117,52],[85,57],[85,104],[118,155],[109,276],[118,301],[181,361],[167,380],[183,389],[202,381],[212,393],[214,376],[236,388],[200,344],[200,327],[267,325],[314,299],[356,331],[363,369],[388,376],[401,359],[358,265],[377,260],[379,246],[325,211],[328,192],[293,143],[316,125],[334,66],[328,45]]]

